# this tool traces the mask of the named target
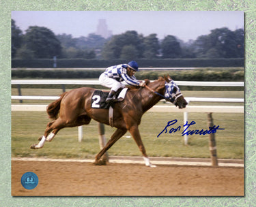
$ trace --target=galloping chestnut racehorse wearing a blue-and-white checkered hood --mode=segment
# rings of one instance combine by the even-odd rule
[[[164,76],[158,80],[150,82],[145,80],[145,87],[131,87],[123,101],[115,103],[113,108],[113,127],[116,131],[111,136],[106,146],[100,150],[96,155],[94,163],[97,165],[105,164],[100,160],[100,157],[106,153],[106,150],[111,148],[119,138],[124,136],[126,131],[129,131],[134,141],[137,143],[139,150],[145,160],[145,165],[155,167],[150,163],[147,157],[145,147],[141,141],[139,133],[139,124],[141,123],[142,115],[152,108],[160,99],[165,98],[167,101],[175,104],[179,108],[186,108],[188,104],[184,99],[179,87],[171,77]],[[53,121],[49,122],[44,131],[44,136],[39,138],[38,144],[31,145],[31,148],[38,149],[44,146],[44,142],[51,142],[56,136],[57,132],[64,127],[77,127],[81,125],[88,125],[93,118],[99,123],[110,125],[109,123],[109,109],[92,108],[91,103],[94,101],[92,95],[96,89],[83,87],[79,89],[72,89],[65,92],[59,99],[50,103],[47,108],[49,118]]]

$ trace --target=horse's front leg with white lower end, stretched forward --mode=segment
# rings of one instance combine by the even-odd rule
[[[134,138],[136,144],[139,146],[139,150],[141,151],[141,153],[143,155],[145,165],[149,166],[151,168],[155,168],[156,165],[152,165],[152,163],[150,163],[150,159],[147,157],[147,153],[146,153],[145,147],[143,145],[143,142],[141,140],[141,134],[139,133],[138,126],[134,125],[134,126],[130,127],[129,131],[130,131],[130,134],[132,135],[132,137]]]

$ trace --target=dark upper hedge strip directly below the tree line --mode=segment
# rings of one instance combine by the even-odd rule
[[[139,67],[244,67],[244,59],[153,59],[137,60]],[[109,67],[123,60],[57,59],[58,68]],[[12,59],[12,68],[52,68],[53,59]]]

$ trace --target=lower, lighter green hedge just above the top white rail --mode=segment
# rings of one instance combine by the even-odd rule
[[[101,69],[12,69],[12,78],[98,78],[102,74]],[[139,80],[156,80],[159,76],[169,74],[173,80],[188,81],[244,81],[244,70],[242,67],[229,69],[191,69],[182,71],[139,71],[136,77]]]

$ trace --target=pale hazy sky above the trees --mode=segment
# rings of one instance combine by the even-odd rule
[[[23,32],[29,26],[47,27],[55,35],[66,33],[72,37],[95,33],[99,19],[106,19],[113,35],[135,30],[144,36],[156,33],[158,39],[174,35],[185,42],[208,35],[212,29],[228,27],[231,31],[244,28],[244,12],[36,12],[13,11],[15,20]]]

